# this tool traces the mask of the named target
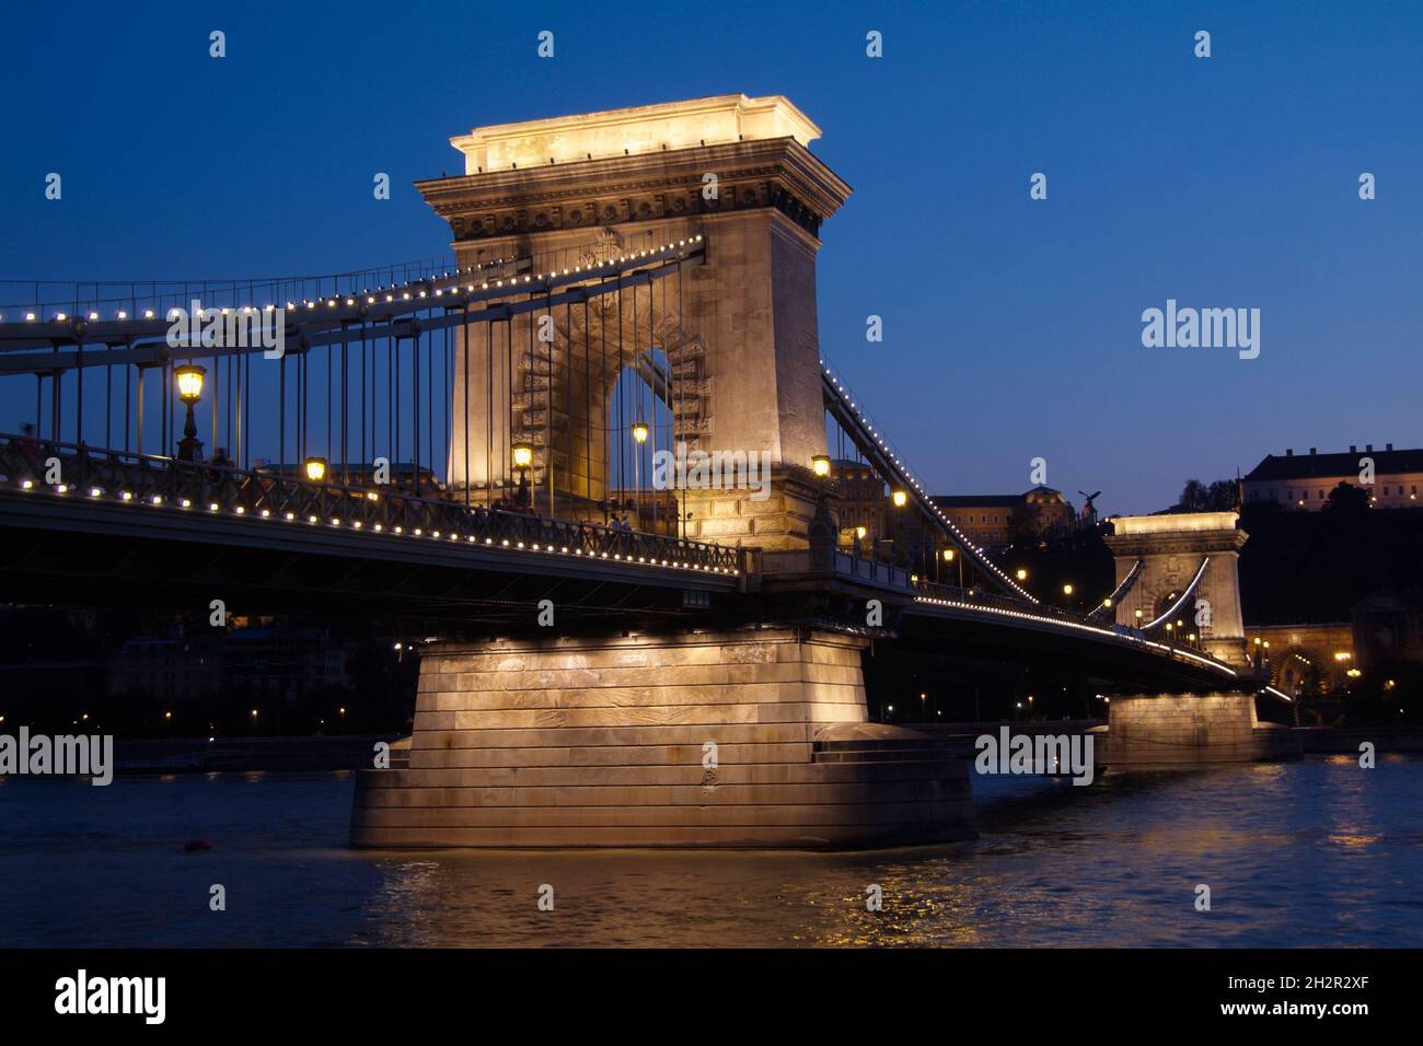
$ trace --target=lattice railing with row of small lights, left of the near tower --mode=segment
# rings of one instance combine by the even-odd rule
[[[0,485],[714,574],[736,574],[739,562],[736,548],[716,544],[462,505],[384,485],[314,482],[265,468],[240,470],[26,435],[0,434]]]

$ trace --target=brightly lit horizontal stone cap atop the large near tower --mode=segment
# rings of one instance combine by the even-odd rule
[[[808,148],[820,128],[784,95],[721,94],[475,127],[450,144],[464,154],[465,174],[477,174],[770,138],[794,138]]]

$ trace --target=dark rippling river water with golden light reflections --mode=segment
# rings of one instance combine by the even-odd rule
[[[1409,757],[980,777],[978,842],[872,854],[354,851],[351,790],[0,780],[0,946],[1423,945]]]

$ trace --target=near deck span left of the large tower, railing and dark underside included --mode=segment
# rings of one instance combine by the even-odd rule
[[[58,460],[64,482],[46,484]],[[440,619],[679,613],[734,593],[739,552],[268,470],[0,437],[10,601],[277,599]],[[517,609],[515,609],[517,608]]]

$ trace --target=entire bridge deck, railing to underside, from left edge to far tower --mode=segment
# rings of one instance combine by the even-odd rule
[[[46,484],[57,458],[64,482]],[[1050,659],[1104,687],[1252,685],[1244,670],[1086,615],[915,582],[902,568],[825,549],[756,552],[467,507],[268,470],[0,437],[0,592],[9,601],[222,598],[286,609],[527,623],[539,599],[588,626],[616,619],[724,623],[835,608],[885,638]],[[828,601],[825,599],[828,596]],[[814,601],[813,601],[814,602]],[[818,620],[818,619],[817,619]],[[871,629],[874,633],[875,630]]]

